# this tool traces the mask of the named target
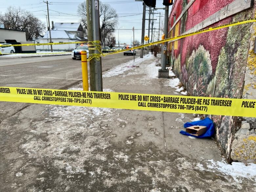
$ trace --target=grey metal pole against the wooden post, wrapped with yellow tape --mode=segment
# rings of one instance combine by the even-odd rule
[[[100,41],[100,24],[99,24],[99,0],[92,1],[92,13],[93,13],[93,40]],[[100,49],[101,43],[94,43]],[[94,54],[99,54],[99,51],[94,50]],[[95,58],[94,58],[95,59]],[[102,88],[102,65],[101,57],[99,60],[95,59],[95,80],[96,80],[96,91],[103,91]]]

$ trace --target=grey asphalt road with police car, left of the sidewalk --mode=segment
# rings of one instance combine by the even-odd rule
[[[139,57],[139,51],[135,57]],[[132,59],[133,56],[124,56],[123,53],[102,57],[102,72]],[[0,56],[0,87],[67,89],[81,80],[81,60],[73,60],[71,55],[26,58]],[[28,105],[0,102],[0,122]]]

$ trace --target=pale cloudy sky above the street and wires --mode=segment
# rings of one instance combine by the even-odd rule
[[[51,3],[49,5],[49,14],[50,14],[50,23],[54,22],[80,22],[80,18],[77,15],[77,7],[82,0],[50,0]],[[116,29],[119,29],[119,42],[131,44],[131,40],[133,39],[132,27],[135,30],[135,39],[141,40],[141,26],[142,26],[142,11],[143,6],[142,2],[136,2],[135,0],[101,0],[102,3],[110,4],[118,14],[118,25]],[[157,8],[163,8],[162,0],[157,0]],[[42,3],[42,0],[2,0],[0,6],[0,13],[4,14],[9,6],[21,7],[27,11],[32,12],[36,17],[41,19],[46,24],[46,14],[47,14],[47,6],[46,3]],[[169,8],[169,11],[171,6]],[[58,11],[58,12],[54,12]],[[159,12],[164,14],[163,10],[156,10],[154,15],[154,19],[158,19],[154,21],[156,24],[154,28],[159,28]],[[133,16],[129,16],[133,15]],[[164,16],[164,15],[162,15]],[[148,12],[146,13],[146,18],[148,17]],[[163,19],[163,17],[161,18]],[[47,24],[46,24],[47,26]],[[145,25],[145,34],[148,34],[148,21],[146,21]],[[151,33],[151,32],[150,32]],[[155,34],[158,37],[158,30],[156,30]],[[118,30],[115,32],[116,35],[116,43],[118,43]],[[151,35],[151,34],[150,34]],[[160,34],[161,35],[161,34]],[[155,38],[155,41],[157,39]]]

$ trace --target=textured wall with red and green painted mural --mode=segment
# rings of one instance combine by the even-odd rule
[[[188,31],[234,2],[234,0],[220,0],[218,3],[210,0],[195,0],[175,27],[170,30],[190,1],[192,0],[175,1],[169,16],[169,37]],[[253,18],[255,17],[255,4],[256,0],[251,8],[226,17],[206,28]],[[246,71],[249,81],[248,85],[245,85],[245,89],[248,86],[251,90],[254,90],[252,94],[254,94],[253,99],[255,99],[256,83],[251,81],[251,77],[255,80],[256,75],[256,56],[253,53],[255,34],[253,32],[256,33],[256,30],[252,28],[252,23],[249,23],[170,42],[168,45],[168,51],[170,52],[169,62],[173,66],[174,73],[186,87],[188,95],[228,98],[245,97],[245,71],[249,68],[249,70],[252,70]],[[210,117],[215,123],[216,139],[227,160],[230,160],[232,156],[233,160],[256,161],[255,150],[254,157],[253,153],[251,156],[249,155],[250,157],[248,155],[241,157],[241,154],[239,154],[239,157],[236,156],[235,154],[238,152],[235,153],[235,146],[239,145],[241,148],[243,144],[234,140],[237,135],[240,135],[238,130],[240,130],[242,124],[247,123],[247,121],[252,122],[250,124],[252,127],[246,132],[249,131],[249,133],[254,134],[253,123],[256,121],[255,118],[242,119],[241,117],[213,115]],[[234,144],[232,145],[233,141]],[[255,140],[252,142],[255,144]]]

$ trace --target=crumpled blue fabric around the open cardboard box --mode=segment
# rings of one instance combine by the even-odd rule
[[[184,127],[190,127],[193,125],[199,125],[199,126],[205,126],[206,127],[206,132],[203,135],[200,136],[194,136],[191,135],[185,131],[180,131],[180,134],[182,135],[187,135],[187,136],[192,136],[192,137],[196,137],[196,138],[206,138],[206,137],[212,137],[214,134],[214,125],[212,120],[209,117],[206,117],[203,120],[199,120],[199,121],[194,121],[194,122],[187,122],[184,124]]]

